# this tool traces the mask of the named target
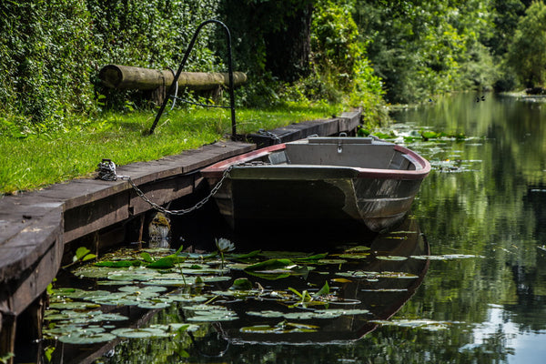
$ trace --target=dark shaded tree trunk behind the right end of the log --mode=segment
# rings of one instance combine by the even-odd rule
[[[308,73],[313,0],[223,0],[238,68],[294,81]]]

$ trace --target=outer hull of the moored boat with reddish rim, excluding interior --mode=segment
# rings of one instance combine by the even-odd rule
[[[316,228],[358,221],[371,231],[383,231],[407,215],[430,170],[424,160],[419,170],[401,172],[288,163],[248,165],[249,160],[258,159],[256,156],[263,160],[264,153],[283,150],[282,146],[265,148],[202,171],[209,184],[215,186],[220,171],[236,166],[215,194],[219,211],[230,227]],[[240,163],[241,158],[247,165]],[[417,158],[413,154],[413,159]]]

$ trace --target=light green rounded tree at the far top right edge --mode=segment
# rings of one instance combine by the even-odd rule
[[[546,5],[536,1],[520,19],[508,60],[521,83],[544,86],[546,81]]]

